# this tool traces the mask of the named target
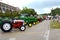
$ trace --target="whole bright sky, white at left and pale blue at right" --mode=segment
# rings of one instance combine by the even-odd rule
[[[60,0],[0,0],[0,2],[19,7],[33,8],[38,14],[50,13],[51,9],[60,8]]]

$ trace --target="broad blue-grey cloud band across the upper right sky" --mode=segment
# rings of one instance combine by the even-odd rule
[[[36,1],[34,3],[31,3],[28,5],[29,7],[32,7],[32,8],[38,8],[38,9],[41,9],[41,8],[45,8],[45,7],[51,7],[51,6],[60,6],[60,1],[58,0],[46,0],[46,1]]]

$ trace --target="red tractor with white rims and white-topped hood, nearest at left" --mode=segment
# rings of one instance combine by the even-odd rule
[[[12,30],[12,28],[18,28],[21,31],[25,31],[26,27],[24,24],[24,20],[12,20],[12,21],[8,21],[8,20],[4,20],[4,21],[0,21],[0,25],[1,25],[1,30],[3,32],[10,32]]]

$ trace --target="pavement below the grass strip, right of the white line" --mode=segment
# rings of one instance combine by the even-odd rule
[[[51,29],[49,40],[60,40],[60,29]]]

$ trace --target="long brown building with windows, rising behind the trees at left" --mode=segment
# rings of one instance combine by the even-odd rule
[[[11,5],[0,2],[0,12],[5,13],[6,10],[19,11],[20,9],[18,7],[13,7]]]

